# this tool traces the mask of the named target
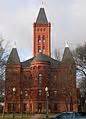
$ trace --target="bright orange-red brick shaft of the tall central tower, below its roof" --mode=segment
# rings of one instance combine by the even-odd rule
[[[36,56],[39,54],[39,49],[44,49],[41,52],[43,54],[46,54],[48,56],[51,55],[51,24],[48,23],[46,25],[42,24],[36,24],[34,23],[33,26],[33,55]],[[40,36],[40,40],[38,37]],[[42,38],[45,37],[43,41]]]

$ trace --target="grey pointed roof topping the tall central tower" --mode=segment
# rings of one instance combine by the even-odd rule
[[[47,20],[44,8],[40,8],[36,23],[37,24],[48,24],[48,20]]]

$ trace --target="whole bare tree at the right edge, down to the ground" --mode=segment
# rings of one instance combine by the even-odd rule
[[[77,74],[81,77],[79,81],[79,87],[81,92],[81,107],[82,111],[86,111],[86,43],[82,46],[78,46],[73,51],[76,61]]]

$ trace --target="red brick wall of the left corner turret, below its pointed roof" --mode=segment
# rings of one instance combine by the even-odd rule
[[[13,88],[16,88],[13,93]],[[20,65],[8,65],[5,80],[5,111],[9,112],[8,104],[16,103],[16,111],[20,111]]]

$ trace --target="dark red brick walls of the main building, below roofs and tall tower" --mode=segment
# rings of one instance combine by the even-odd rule
[[[41,95],[38,92],[40,89],[39,74],[42,74]],[[16,112],[21,111],[20,107],[24,111],[24,105],[29,112],[40,110],[45,112],[46,86],[49,88],[49,111],[77,111],[76,77],[73,67],[61,64],[54,68],[48,62],[34,62],[30,67],[22,69],[20,66],[7,67],[5,111],[8,111],[8,103],[15,102]],[[15,95],[12,94],[13,87],[17,89]]]

